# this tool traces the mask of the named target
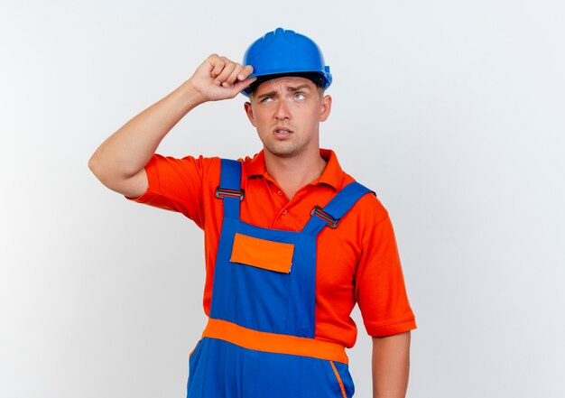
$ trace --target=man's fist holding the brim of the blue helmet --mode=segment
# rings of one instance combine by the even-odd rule
[[[236,97],[247,88],[256,78],[248,78],[253,73],[253,67],[245,67],[237,62],[210,55],[189,79],[192,88],[198,91],[203,101],[218,101]]]

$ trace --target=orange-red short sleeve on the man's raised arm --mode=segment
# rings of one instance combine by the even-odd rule
[[[218,170],[216,170],[218,169]],[[145,166],[148,188],[139,198],[127,198],[155,208],[177,211],[204,226],[202,191],[207,179],[219,181],[219,159],[154,154]],[[217,172],[215,172],[217,171]],[[214,174],[218,174],[215,176]]]

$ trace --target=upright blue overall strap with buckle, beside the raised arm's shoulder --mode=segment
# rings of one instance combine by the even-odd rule
[[[241,163],[222,159],[216,198],[224,200],[224,217],[239,219],[239,202],[244,199],[241,189]]]

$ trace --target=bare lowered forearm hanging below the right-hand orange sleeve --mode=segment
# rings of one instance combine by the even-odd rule
[[[373,338],[373,398],[404,398],[410,370],[410,332]]]

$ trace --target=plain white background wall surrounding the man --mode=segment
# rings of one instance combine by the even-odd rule
[[[277,26],[320,44],[322,146],[393,218],[419,325],[408,395],[565,396],[564,2],[1,4],[0,396],[185,396],[201,232],[87,162],[209,53],[241,60]],[[160,153],[256,153],[244,99],[200,106]],[[359,397],[369,350],[361,325]]]

